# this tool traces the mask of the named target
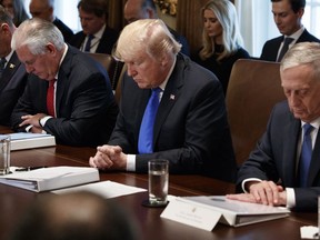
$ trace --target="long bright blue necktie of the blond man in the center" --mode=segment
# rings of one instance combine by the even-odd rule
[[[153,124],[159,107],[160,91],[161,91],[160,88],[152,89],[152,94],[149,98],[147,108],[144,110],[138,140],[139,153],[153,152]]]

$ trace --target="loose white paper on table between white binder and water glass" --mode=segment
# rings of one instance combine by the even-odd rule
[[[56,190],[52,192],[57,194],[63,194],[63,193],[76,192],[76,191],[91,191],[91,192],[102,196],[106,199],[109,199],[109,198],[116,198],[120,196],[133,194],[137,192],[144,192],[147,190],[142,188],[121,184],[121,183],[113,182],[113,181],[100,181],[100,182],[94,182],[90,184]]]

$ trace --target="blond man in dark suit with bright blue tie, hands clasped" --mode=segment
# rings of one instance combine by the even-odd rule
[[[109,143],[98,147],[90,166],[147,172],[150,159],[168,159],[171,173],[234,180],[237,167],[221,84],[213,73],[180,54],[180,48],[160,19],[124,27],[116,50],[128,68],[120,113]],[[151,89],[161,91],[157,93],[160,106],[146,133]],[[142,141],[148,137],[148,143]]]

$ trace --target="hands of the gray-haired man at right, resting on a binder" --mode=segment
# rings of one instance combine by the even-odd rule
[[[249,193],[227,194],[228,199],[262,203],[268,206],[286,206],[287,192],[273,181],[250,181],[246,183]]]

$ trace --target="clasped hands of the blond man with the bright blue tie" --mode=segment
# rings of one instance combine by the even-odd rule
[[[104,144],[97,148],[97,153],[89,159],[89,164],[102,170],[126,170],[127,154],[119,146]]]

